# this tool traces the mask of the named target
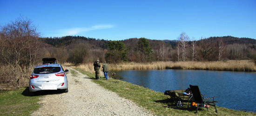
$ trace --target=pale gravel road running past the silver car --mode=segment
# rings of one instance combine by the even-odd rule
[[[95,84],[84,74],[67,67],[68,92],[45,95],[32,116],[153,116],[149,110]]]

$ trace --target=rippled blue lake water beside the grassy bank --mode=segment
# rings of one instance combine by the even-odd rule
[[[164,93],[198,85],[205,97],[217,97],[217,106],[256,110],[256,72],[205,70],[130,70],[111,71],[123,81]],[[110,73],[111,74],[111,73]]]

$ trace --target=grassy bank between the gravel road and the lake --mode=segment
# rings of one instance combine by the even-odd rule
[[[167,96],[165,96],[161,92],[156,92],[154,90],[150,90],[148,88],[144,88],[135,84],[130,84],[125,81],[116,80],[116,79],[108,79],[105,81],[104,79],[95,80],[95,75],[88,72],[83,71],[79,68],[75,68],[83,74],[88,75],[93,78],[93,81],[97,84],[100,84],[105,89],[114,91],[118,93],[120,97],[125,97],[142,107],[145,107],[148,110],[151,110],[157,116],[191,116],[195,115],[195,108],[187,108],[185,105],[183,108],[177,108],[175,103],[172,103]],[[222,107],[217,107],[218,113],[215,112],[214,106],[210,106],[209,110],[206,108],[202,108],[198,111],[197,115],[226,115],[226,116],[234,116],[234,115],[255,115],[255,113],[248,113],[243,111],[230,110]]]

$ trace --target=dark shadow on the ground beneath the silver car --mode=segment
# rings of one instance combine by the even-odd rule
[[[36,92],[30,92],[29,88],[26,87],[26,89],[21,93],[23,96],[45,96],[45,95],[54,95],[54,94],[61,94],[63,93],[62,90],[45,90],[45,91],[36,91]]]

